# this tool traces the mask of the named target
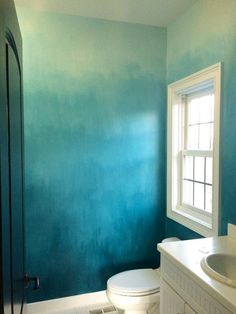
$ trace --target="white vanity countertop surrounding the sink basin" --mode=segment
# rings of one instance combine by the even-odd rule
[[[161,254],[190,276],[213,298],[236,313],[236,288],[227,286],[209,277],[201,268],[201,259],[209,253],[236,255],[236,239],[229,236],[167,242],[158,244]],[[235,269],[236,271],[236,269]]]

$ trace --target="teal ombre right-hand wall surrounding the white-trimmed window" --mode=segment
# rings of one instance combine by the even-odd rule
[[[199,0],[167,30],[167,82],[223,62],[220,233],[236,224],[236,1]],[[167,219],[166,235],[198,235]]]

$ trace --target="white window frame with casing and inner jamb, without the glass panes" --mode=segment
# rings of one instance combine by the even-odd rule
[[[214,140],[213,140],[213,177],[212,177],[212,214],[201,215],[195,208],[179,206],[181,187],[181,152],[183,147],[183,104],[181,95],[186,90],[195,90],[201,86],[206,88],[207,82],[213,85],[214,103]],[[213,84],[212,84],[213,83]],[[167,115],[167,217],[205,237],[218,235],[219,229],[219,142],[220,142],[220,97],[221,97],[221,63],[217,63],[182,80],[168,85],[168,115]],[[178,140],[174,141],[174,114],[178,110]],[[175,114],[176,115],[176,114]],[[181,138],[182,137],[182,138]],[[176,143],[178,142],[178,143]]]

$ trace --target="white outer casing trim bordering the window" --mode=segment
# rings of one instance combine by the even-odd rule
[[[199,85],[201,82],[213,80],[215,95],[214,111],[214,144],[213,144],[213,211],[210,221],[204,221],[191,215],[191,211],[175,208],[173,204],[173,139],[172,110],[176,95],[181,91]],[[167,217],[185,227],[205,236],[218,235],[219,232],[219,142],[220,142],[220,97],[221,97],[221,63],[217,63],[182,80],[168,85],[168,115],[167,115]],[[177,182],[180,184],[180,182]],[[177,207],[177,206],[176,206]]]

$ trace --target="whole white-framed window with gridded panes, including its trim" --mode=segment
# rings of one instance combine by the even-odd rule
[[[218,234],[221,64],[168,86],[167,216]]]

